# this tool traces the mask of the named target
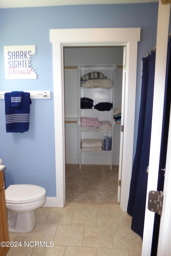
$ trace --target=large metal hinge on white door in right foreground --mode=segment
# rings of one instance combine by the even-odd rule
[[[154,191],[149,192],[148,199],[148,209],[151,212],[155,212],[161,216],[163,207],[163,191]]]

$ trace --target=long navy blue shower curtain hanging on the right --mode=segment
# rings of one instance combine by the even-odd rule
[[[166,84],[165,92],[170,87],[168,80],[168,66],[170,58],[170,40],[168,42],[168,53],[166,63]],[[127,213],[132,216],[131,229],[143,238],[145,205],[147,193],[147,166],[149,165],[151,122],[153,111],[153,92],[154,92],[154,72],[155,72],[156,52],[142,59],[142,84],[141,101],[139,110],[138,134],[136,153],[133,162],[132,177],[130,183],[130,194]],[[165,93],[166,94],[166,93]],[[170,94],[171,95],[171,94]],[[166,95],[164,100],[164,116]],[[159,103],[160,104],[160,103]],[[163,120],[163,117],[159,117]],[[163,125],[164,125],[163,120]],[[163,135],[162,135],[163,138]],[[157,139],[157,138],[156,138]],[[163,139],[162,139],[163,141]],[[163,180],[162,180],[163,182]]]

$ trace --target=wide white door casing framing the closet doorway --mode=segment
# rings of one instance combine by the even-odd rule
[[[53,51],[56,207],[65,204],[64,72],[65,46],[126,46],[121,208],[127,211],[133,159],[137,46],[140,28],[50,29]]]

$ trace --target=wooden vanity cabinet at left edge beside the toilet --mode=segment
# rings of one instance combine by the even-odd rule
[[[9,241],[3,170],[0,171],[0,243],[2,241]],[[9,249],[0,245],[0,256],[5,256]]]

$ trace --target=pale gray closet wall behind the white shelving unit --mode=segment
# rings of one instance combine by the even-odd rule
[[[123,47],[75,47],[64,48],[64,65],[77,66],[81,64],[116,64],[123,63]],[[65,73],[65,117],[79,118],[79,86],[80,77],[78,69],[64,69]],[[114,108],[121,107],[122,101],[122,68],[115,71]],[[113,155],[112,164],[119,165],[121,125],[113,129]],[[65,124],[65,156],[66,164],[79,164],[79,125],[77,123]],[[92,162],[92,161],[91,161]],[[87,159],[89,164],[89,159]],[[110,164],[108,160],[95,159],[94,164]]]

